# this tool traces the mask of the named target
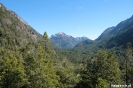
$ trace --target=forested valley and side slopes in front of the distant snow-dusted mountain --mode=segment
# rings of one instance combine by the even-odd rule
[[[132,18],[64,49],[0,4],[0,88],[133,88]]]

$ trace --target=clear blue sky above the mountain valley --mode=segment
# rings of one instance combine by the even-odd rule
[[[40,34],[96,39],[133,15],[133,0],[0,0]]]

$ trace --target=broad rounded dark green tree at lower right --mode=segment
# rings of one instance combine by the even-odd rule
[[[115,81],[118,83],[120,80],[119,63],[112,53],[100,51],[93,59],[93,64],[96,69],[95,74],[97,77],[102,77],[107,81]]]

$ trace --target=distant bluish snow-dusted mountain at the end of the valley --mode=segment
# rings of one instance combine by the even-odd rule
[[[59,46],[60,48],[73,48],[81,41],[88,40],[87,37],[74,38],[62,32],[59,32],[55,35],[51,35],[50,39],[56,44],[56,46]]]

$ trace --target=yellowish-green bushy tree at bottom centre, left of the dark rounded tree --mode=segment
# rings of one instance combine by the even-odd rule
[[[60,82],[64,85],[64,88],[73,88],[78,83],[80,77],[76,71],[77,68],[66,58],[58,61],[56,73],[60,77]]]

